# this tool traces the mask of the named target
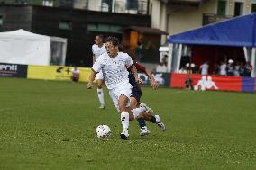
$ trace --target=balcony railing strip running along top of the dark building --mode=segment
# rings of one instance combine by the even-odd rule
[[[0,0],[0,5],[42,5],[109,13],[151,14],[149,0]]]

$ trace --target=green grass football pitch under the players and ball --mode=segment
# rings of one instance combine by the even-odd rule
[[[0,78],[0,169],[256,169],[256,94],[142,88],[167,130],[147,123],[139,136],[130,123],[122,140],[120,115],[105,90],[99,110],[96,85]],[[106,124],[112,138],[99,140]]]

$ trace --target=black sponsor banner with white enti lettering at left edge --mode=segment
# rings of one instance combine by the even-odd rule
[[[27,65],[0,63],[0,76],[27,77]]]

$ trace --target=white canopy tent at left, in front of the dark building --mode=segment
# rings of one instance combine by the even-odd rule
[[[24,65],[65,65],[67,39],[22,29],[0,32],[0,62]]]

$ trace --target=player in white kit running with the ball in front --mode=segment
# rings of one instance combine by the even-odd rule
[[[126,67],[133,67],[132,58],[124,53],[118,53],[119,42],[115,37],[108,37],[105,40],[105,48],[107,53],[97,58],[92,67],[89,76],[87,89],[93,87],[93,81],[96,73],[100,70],[105,77],[105,85],[109,89],[109,94],[114,102],[116,109],[121,113],[121,123],[123,132],[120,134],[122,139],[128,139],[129,120],[133,121],[142,112],[146,111],[146,107],[135,108],[131,111],[130,96],[132,94],[132,85],[129,83],[128,71]],[[136,73],[134,73],[136,75]],[[138,78],[138,77],[136,77]]]

